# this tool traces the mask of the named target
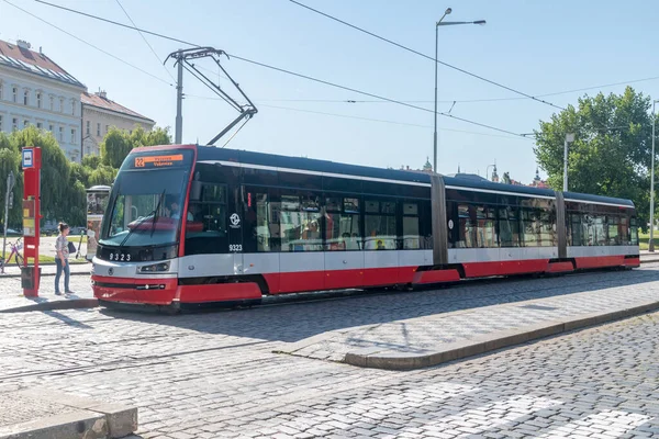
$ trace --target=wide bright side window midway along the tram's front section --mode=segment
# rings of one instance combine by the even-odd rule
[[[281,195],[281,251],[323,249],[321,213],[315,195]]]

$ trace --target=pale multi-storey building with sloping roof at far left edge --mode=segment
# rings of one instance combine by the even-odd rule
[[[82,158],[82,106],[87,88],[30,44],[0,41],[0,131],[34,125],[49,131],[66,157]]]

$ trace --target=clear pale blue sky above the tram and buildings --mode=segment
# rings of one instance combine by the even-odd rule
[[[431,59],[289,0],[51,1],[126,24],[132,20],[152,32],[428,110],[373,102],[378,100],[230,57],[222,66],[258,113],[226,147],[375,167],[418,169],[426,158],[433,161],[435,67]],[[654,56],[657,1],[300,2],[431,57],[435,22],[446,8],[453,9],[446,21],[487,20],[484,26],[440,26],[439,60],[534,97],[560,93],[541,99],[561,108],[577,104],[585,93],[621,93],[625,85],[600,87],[618,82],[659,97],[659,57]],[[188,46],[144,37],[155,54],[136,31],[34,0],[0,0],[0,40],[26,40],[33,49],[42,47],[89,91],[105,90],[108,98],[159,126],[170,126],[174,134],[176,68],[171,61],[164,66],[163,60]],[[233,92],[212,60],[197,65]],[[652,77],[657,78],[637,81]],[[571,91],[585,88],[592,89]],[[187,74],[183,92],[183,143],[206,144],[237,115]],[[455,116],[515,134],[533,133],[539,121],[560,111],[442,65],[438,101],[439,112],[450,109]],[[462,172],[484,176],[496,164],[500,176],[509,171],[511,178],[527,183],[534,178],[533,137],[444,116],[437,124],[439,172],[454,173],[459,166]],[[230,136],[216,145],[223,146]]]

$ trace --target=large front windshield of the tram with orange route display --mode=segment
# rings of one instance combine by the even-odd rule
[[[177,160],[145,165],[154,164],[154,157]],[[116,247],[176,244],[190,162],[191,157],[185,160],[182,154],[129,156],[114,181],[99,244]]]

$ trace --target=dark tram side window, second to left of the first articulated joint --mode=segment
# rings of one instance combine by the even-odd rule
[[[366,250],[395,250],[395,201],[366,200],[366,212],[364,248]]]

